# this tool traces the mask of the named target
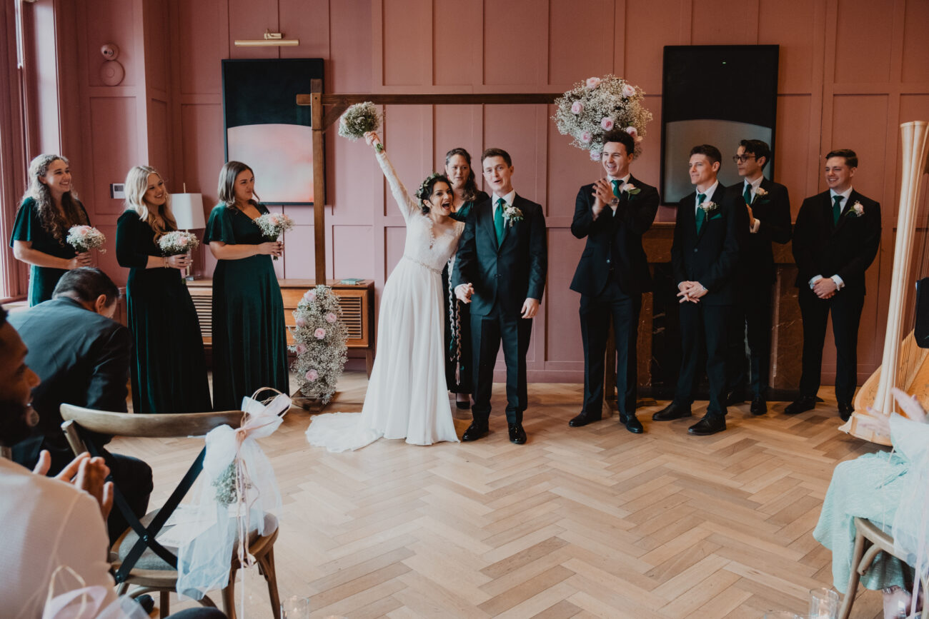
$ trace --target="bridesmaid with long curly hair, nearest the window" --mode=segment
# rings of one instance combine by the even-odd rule
[[[72,226],[89,226],[84,204],[72,189],[71,168],[60,155],[39,155],[29,164],[29,187],[20,202],[9,246],[17,260],[31,264],[29,305],[52,298],[65,271],[90,266],[90,252],[78,253],[65,240]]]

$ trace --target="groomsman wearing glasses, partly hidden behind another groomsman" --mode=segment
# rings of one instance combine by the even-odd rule
[[[749,235],[739,257],[739,298],[730,341],[729,394],[726,405],[744,399],[745,383],[752,389],[752,415],[767,412],[771,371],[771,290],[776,279],[771,243],[791,239],[791,199],[787,187],[765,178],[771,148],[761,140],[741,140],[732,161],[744,182],[742,201],[749,214]],[[736,187],[732,187],[735,189]],[[748,338],[750,363],[745,360]]]

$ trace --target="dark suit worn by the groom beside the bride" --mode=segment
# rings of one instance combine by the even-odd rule
[[[491,198],[492,200],[492,198]],[[504,237],[497,244],[493,204],[475,205],[464,225],[458,246],[452,286],[470,283],[471,342],[474,355],[474,407],[476,423],[486,425],[491,414],[493,366],[503,341],[506,361],[506,420],[522,423],[526,410],[526,353],[532,321],[519,317],[526,299],[542,300],[548,252],[542,206],[517,195],[513,206],[523,219],[504,222]]]

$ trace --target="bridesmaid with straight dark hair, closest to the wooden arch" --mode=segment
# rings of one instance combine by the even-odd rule
[[[271,256],[283,252],[283,242],[266,241],[255,224],[268,209],[255,201],[255,173],[247,165],[224,165],[218,194],[204,239],[217,260],[213,405],[216,410],[238,410],[242,396],[261,387],[290,393],[284,305],[271,263]]]

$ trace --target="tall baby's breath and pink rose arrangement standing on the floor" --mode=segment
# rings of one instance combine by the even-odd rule
[[[347,361],[347,333],[342,307],[333,290],[317,286],[307,290],[294,310],[293,370],[300,393],[326,405],[335,393]]]

